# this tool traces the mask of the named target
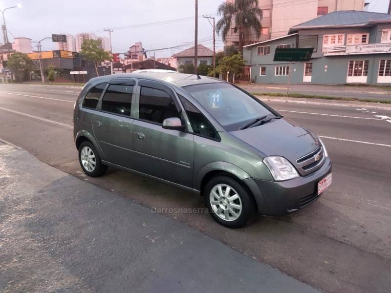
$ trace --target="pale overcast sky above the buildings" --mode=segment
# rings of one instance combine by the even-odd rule
[[[387,13],[389,0],[369,0],[369,10]],[[223,0],[198,0],[198,14],[213,15]],[[39,41],[51,34],[94,32],[107,36],[103,28],[115,28],[158,21],[194,17],[195,0],[0,0],[1,9],[22,4],[5,12],[8,38],[27,37]],[[2,36],[1,36],[2,37]],[[2,40],[2,38],[1,38]],[[198,19],[198,40],[212,48],[212,26]],[[143,42],[145,49],[182,45],[177,49],[156,51],[156,57],[169,57],[185,49],[185,42],[194,41],[194,19],[149,27],[116,29],[112,33],[113,52],[125,52],[134,42]],[[191,46],[191,44],[190,44]],[[187,45],[189,47],[189,45]],[[217,50],[223,43],[217,41]],[[51,40],[43,49],[55,49]],[[153,53],[149,53],[153,55]]]

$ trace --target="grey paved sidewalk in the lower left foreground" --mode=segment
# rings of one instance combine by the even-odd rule
[[[318,292],[1,142],[0,190],[4,293]]]

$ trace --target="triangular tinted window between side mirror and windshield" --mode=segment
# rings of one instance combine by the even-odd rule
[[[215,127],[213,127],[209,120],[195,107],[195,105],[182,96],[179,96],[179,99],[185,108],[187,117],[189,117],[194,133],[213,139],[220,139]]]

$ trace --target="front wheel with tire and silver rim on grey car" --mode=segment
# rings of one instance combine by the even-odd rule
[[[252,194],[237,180],[224,175],[209,180],[204,188],[204,200],[217,223],[228,228],[245,226],[256,209]]]

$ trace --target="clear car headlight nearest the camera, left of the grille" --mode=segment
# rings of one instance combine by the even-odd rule
[[[270,156],[263,159],[274,180],[282,181],[299,177],[295,167],[284,157]]]

